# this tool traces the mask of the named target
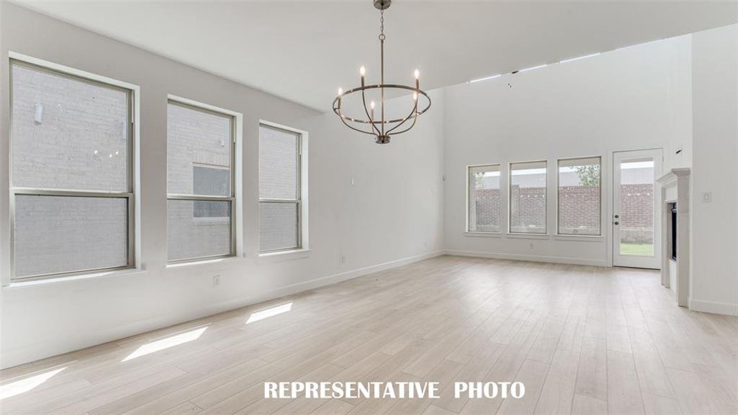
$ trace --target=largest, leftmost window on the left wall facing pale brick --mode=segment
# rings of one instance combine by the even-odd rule
[[[21,61],[10,71],[11,278],[132,267],[133,92]]]

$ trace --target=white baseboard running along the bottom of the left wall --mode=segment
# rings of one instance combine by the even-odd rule
[[[56,356],[58,354],[69,353],[70,351],[86,349],[88,347],[97,346],[114,340],[120,340],[125,337],[139,335],[152,330],[162,329],[164,327],[173,326],[179,323],[185,323],[198,318],[205,318],[209,315],[215,315],[221,312],[227,312],[232,309],[239,309],[245,306],[270,301],[286,295],[297,294],[298,292],[307,291],[323,287],[337,282],[358,278],[363,275],[388,270],[402,265],[412,264],[413,262],[423,261],[424,259],[433,258],[443,255],[443,251],[438,250],[431,253],[413,255],[407,258],[400,258],[395,261],[388,261],[382,264],[362,267],[356,270],[339,272],[334,275],[314,278],[310,281],[304,281],[297,284],[291,284],[285,287],[272,289],[262,292],[258,295],[249,296],[247,298],[238,298],[235,301],[225,301],[216,304],[202,306],[197,309],[190,309],[184,313],[176,315],[157,315],[147,320],[136,321],[126,325],[114,325],[103,332],[94,333],[78,333],[75,336],[68,336],[61,343],[38,343],[32,347],[24,347],[23,349],[7,350],[3,352],[0,360],[0,368],[10,368],[24,363],[34,362],[36,360],[45,359],[46,357]]]

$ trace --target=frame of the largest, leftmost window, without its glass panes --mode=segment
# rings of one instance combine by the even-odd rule
[[[8,58],[8,79],[10,84],[8,92],[10,97],[9,120],[8,125],[10,131],[8,133],[8,193],[10,208],[10,283],[21,281],[37,281],[49,278],[63,278],[72,275],[86,275],[98,272],[108,272],[116,270],[130,270],[137,267],[136,260],[136,216],[137,216],[137,100],[139,89],[129,83],[124,83],[111,78],[100,75],[94,75],[89,72],[83,72],[68,66],[54,64],[41,59],[31,58],[30,56],[9,52]],[[37,72],[46,73],[48,75],[69,78],[83,83],[89,83],[94,86],[100,86],[107,89],[115,89],[125,92],[128,101],[128,126],[127,131],[127,160],[126,160],[126,189],[125,191],[86,191],[82,189],[63,189],[63,188],[27,188],[13,185],[13,67],[24,66]],[[109,197],[116,199],[126,199],[126,264],[119,267],[99,267],[81,270],[70,270],[64,272],[46,272],[44,274],[35,275],[15,275],[15,196],[61,196],[61,197]]]

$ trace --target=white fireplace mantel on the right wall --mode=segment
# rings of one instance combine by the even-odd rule
[[[661,284],[673,287],[677,304],[689,304],[689,168],[672,168],[656,179],[661,185]],[[669,204],[677,204],[677,261],[672,260],[672,220]],[[675,272],[676,275],[672,275]]]

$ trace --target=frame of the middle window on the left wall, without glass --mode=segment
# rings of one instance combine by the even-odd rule
[[[236,186],[236,170],[237,170],[237,158],[236,158],[236,151],[238,148],[238,129],[241,125],[241,114],[238,112],[232,112],[227,109],[221,109],[217,108],[215,106],[208,105],[206,103],[199,103],[194,100],[189,100],[187,98],[183,97],[177,97],[175,95],[168,95],[167,97],[167,109],[169,108],[169,105],[176,105],[176,106],[182,106],[186,109],[191,109],[193,111],[199,111],[204,112],[206,114],[213,114],[217,115],[218,117],[225,117],[230,119],[230,126],[231,126],[231,139],[230,139],[230,194],[229,196],[210,196],[210,195],[194,195],[194,194],[182,194],[182,193],[169,193],[169,162],[167,157],[167,162],[165,163],[165,178],[166,178],[166,186],[167,186],[167,215],[169,214],[169,201],[170,200],[185,200],[185,201],[208,201],[208,202],[229,202],[230,203],[230,253],[227,254],[218,254],[218,255],[204,255],[204,256],[195,256],[191,258],[179,258],[179,259],[169,259],[169,237],[168,237],[168,230],[165,229],[165,240],[166,240],[166,247],[167,247],[167,264],[183,264],[187,262],[195,262],[195,261],[207,261],[210,259],[218,259],[218,258],[232,258],[238,255],[238,247],[237,247],[237,215],[236,211],[238,210],[238,197],[237,197],[237,189]],[[167,119],[169,117],[169,111],[166,112]],[[167,148],[169,147],[169,137],[168,137],[168,131],[166,134],[167,137]],[[167,150],[168,152],[168,150]],[[222,167],[222,166],[221,166]],[[194,220],[193,216],[193,220]],[[165,222],[166,223],[166,222]],[[165,228],[167,225],[165,224]]]

